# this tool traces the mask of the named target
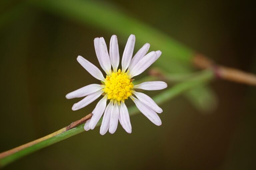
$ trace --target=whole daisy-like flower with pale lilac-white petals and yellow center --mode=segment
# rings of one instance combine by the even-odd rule
[[[124,49],[121,61],[121,70],[118,69],[119,49],[116,35],[111,37],[109,54],[104,38],[101,37],[94,39],[96,56],[101,68],[106,73],[105,78],[102,72],[95,65],[80,55],[77,57],[77,61],[93,77],[100,80],[102,84],[90,84],[68,93],[66,95],[67,99],[86,96],[84,99],[74,104],[72,110],[75,111],[81,109],[95,101],[101,95],[104,96],[92,111],[92,118],[85,123],[85,130],[94,129],[104,113],[100,127],[100,134],[104,135],[108,130],[110,133],[114,133],[117,129],[118,121],[126,132],[131,133],[132,127],[129,113],[124,103],[128,98],[132,99],[137,108],[152,123],[157,126],[162,124],[157,113],[162,113],[163,110],[157,106],[149,96],[144,93],[136,92],[135,89],[161,90],[166,88],[167,84],[163,81],[148,81],[138,85],[133,85],[133,79],[131,79],[145,71],[160,57],[162,52],[152,51],[146,54],[150,46],[149,43],[146,43],[132,58],[134,44],[135,36],[130,35]],[[108,105],[107,100],[110,101]]]

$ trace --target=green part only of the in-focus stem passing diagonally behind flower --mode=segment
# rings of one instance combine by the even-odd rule
[[[205,83],[208,83],[210,80],[212,80],[214,78],[214,74],[211,70],[204,70],[201,73],[197,74],[196,76],[194,76],[193,78],[178,83],[176,85],[174,85],[173,87],[163,91],[162,93],[158,94],[157,96],[155,96],[153,98],[153,100],[157,103],[157,104],[162,104],[190,89],[193,89],[199,85],[204,85]],[[129,114],[130,115],[135,115],[137,113],[139,113],[138,109],[136,108],[136,106],[132,106],[129,107]],[[101,120],[98,122],[97,126],[101,125]],[[42,140],[39,143],[36,143],[32,146],[26,147],[18,152],[15,152],[9,156],[6,157],[2,157],[0,159],[0,167],[3,167],[25,155],[28,155],[30,153],[33,153],[39,149],[42,149],[44,147],[47,147],[49,145],[52,145],[54,143],[57,143],[61,140],[64,140],[66,138],[69,138],[71,136],[74,136],[78,133],[84,132],[83,129],[84,124],[76,127],[76,128],[72,128],[70,130],[61,132],[58,135],[55,135],[53,137],[50,137],[46,140]],[[62,129],[61,129],[62,130]],[[0,153],[1,154],[1,153]]]

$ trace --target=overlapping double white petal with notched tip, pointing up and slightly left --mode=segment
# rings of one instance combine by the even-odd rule
[[[94,39],[94,48],[101,68],[106,72],[106,74],[110,74],[111,64],[107,45],[103,37]]]

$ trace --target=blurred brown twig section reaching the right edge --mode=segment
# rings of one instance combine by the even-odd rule
[[[216,78],[256,86],[256,75],[214,63],[202,54],[196,54],[193,63],[201,69],[213,69]]]

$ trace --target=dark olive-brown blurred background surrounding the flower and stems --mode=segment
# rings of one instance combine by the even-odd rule
[[[69,1],[70,6],[74,7],[77,1]],[[256,12],[250,1],[90,3],[99,9],[107,7],[123,13],[219,64],[256,73]],[[72,111],[72,105],[80,99],[65,98],[73,90],[98,83],[79,65],[77,55],[99,66],[93,46],[95,37],[104,37],[109,46],[111,35],[116,34],[121,56],[129,35],[135,34],[128,30],[119,35],[97,27],[94,21],[79,22],[73,15],[62,15],[61,4],[56,9],[45,4],[0,2],[0,152],[47,135],[90,113],[98,100]],[[139,41],[140,35],[135,36]],[[151,46],[158,42],[157,35],[149,39]],[[135,51],[140,47],[136,43]],[[171,65],[172,56],[164,51],[162,56]],[[164,110],[160,127],[137,114],[130,118],[131,134],[119,125],[113,135],[102,136],[98,127],[5,168],[254,169],[256,88],[223,80],[213,81],[209,88],[214,96],[207,105],[210,109],[200,109],[181,95],[160,105]],[[146,92],[150,96],[157,93]]]

